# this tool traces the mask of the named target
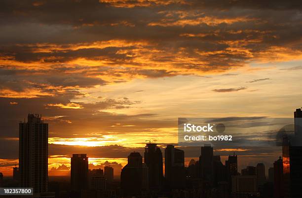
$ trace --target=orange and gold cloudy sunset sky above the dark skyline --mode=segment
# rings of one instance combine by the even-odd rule
[[[145,140],[176,144],[179,117],[293,117],[301,30],[298,0],[1,0],[0,172],[29,112],[49,123],[53,175],[73,153],[121,166]],[[280,155],[235,151],[242,167]]]

